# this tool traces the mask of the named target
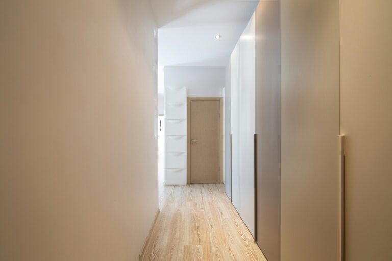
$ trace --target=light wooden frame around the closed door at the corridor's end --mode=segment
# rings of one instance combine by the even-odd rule
[[[186,183],[190,184],[190,102],[191,101],[219,101],[219,184],[223,183],[223,97],[187,97],[187,135],[186,135]]]

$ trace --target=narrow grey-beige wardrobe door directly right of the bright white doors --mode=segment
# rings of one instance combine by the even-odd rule
[[[256,241],[269,261],[281,259],[280,0],[256,9]]]

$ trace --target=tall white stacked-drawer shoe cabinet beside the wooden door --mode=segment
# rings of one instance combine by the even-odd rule
[[[186,87],[165,87],[165,185],[186,185]]]

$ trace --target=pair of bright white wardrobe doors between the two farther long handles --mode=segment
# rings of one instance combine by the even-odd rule
[[[255,235],[255,18],[250,19],[230,59],[232,202]]]

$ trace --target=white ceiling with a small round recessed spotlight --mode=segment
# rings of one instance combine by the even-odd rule
[[[152,0],[159,65],[226,66],[259,0]],[[215,35],[222,38],[216,40]]]

